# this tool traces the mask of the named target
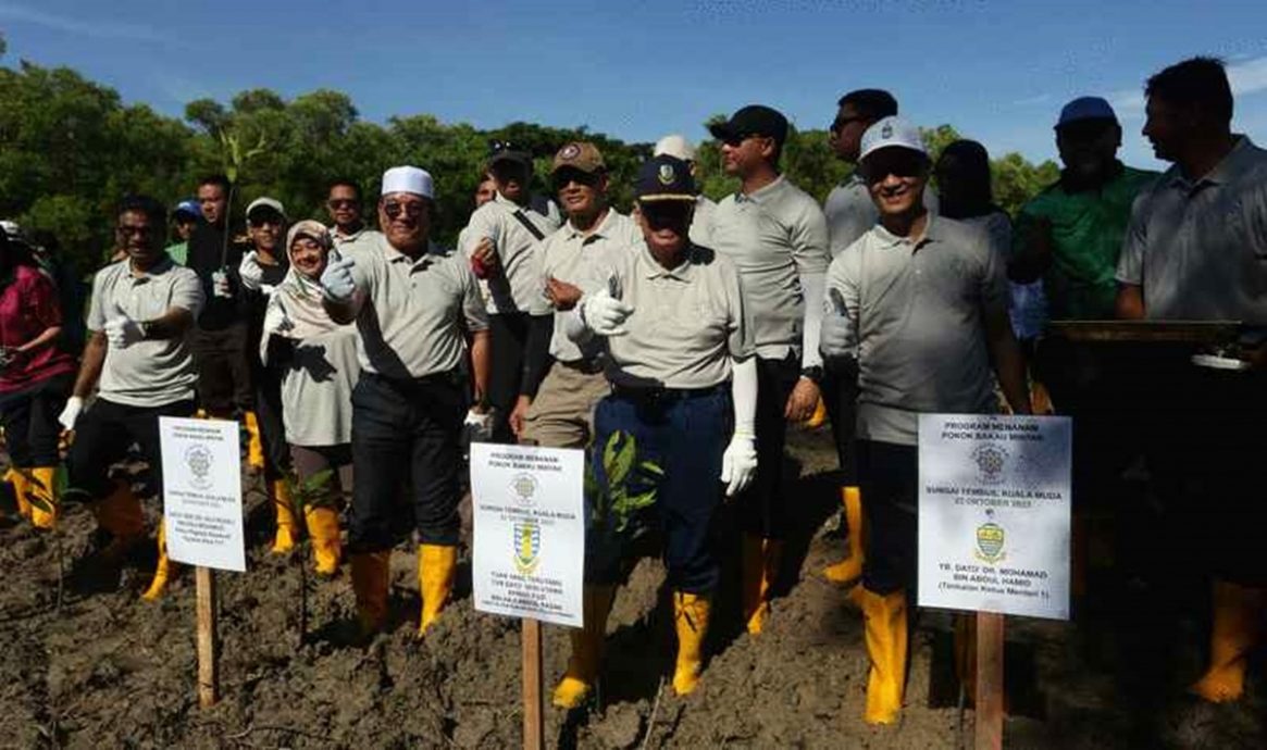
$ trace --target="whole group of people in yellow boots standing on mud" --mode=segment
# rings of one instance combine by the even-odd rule
[[[100,555],[117,564],[146,530],[110,466],[136,445],[161,471],[160,416],[239,419],[276,508],[274,551],[293,547],[299,508],[318,570],[333,574],[350,494],[362,632],[383,627],[389,554],[413,531],[424,633],[452,590],[464,437],[585,448],[584,627],[552,697],[574,708],[593,692],[614,589],[647,528],[660,532],[673,589],[677,693],[699,682],[723,512],[742,532],[744,625],[761,633],[794,502],[784,433],[825,404],[848,554],[824,573],[865,618],[864,718],[892,723],[916,585],[919,414],[1028,414],[1041,381],[1074,417],[1085,518],[1085,498],[1111,492],[1121,469],[1106,457],[1120,442],[1121,380],[1098,350],[1039,341],[1044,322],[1267,324],[1267,152],[1230,132],[1221,63],[1183,61],[1145,94],[1144,136],[1171,170],[1124,166],[1112,108],[1079,98],[1055,122],[1058,182],[1015,219],[992,200],[984,147],[959,141],[934,162],[878,89],[837,103],[830,143],[855,168],[821,208],[782,174],[788,122],[763,105],[710,128],[739,181],[717,204],[699,194],[682,136],[641,166],[630,215],[611,204],[593,143],[555,153],[552,200],[530,190],[531,153],[494,143],[456,250],[431,238],[435,185],[417,166],[384,172],[379,231],[351,181],[329,186],[332,227],[291,224],[265,196],[247,208],[242,239],[227,223],[228,181],[208,177],[177,207],[172,247],[165,208],[131,198],[118,212],[122,255],[92,281],[77,366],[57,347],[54,284],[4,248],[9,478],[22,513],[51,527],[58,435],[73,432],[67,495],[92,508]],[[1173,424],[1187,437],[1157,441],[1169,452],[1148,457],[1175,479],[1176,508],[1206,503],[1195,533],[1218,535],[1211,665],[1195,688],[1211,701],[1240,694],[1263,614],[1263,559],[1237,517],[1264,423],[1259,343],[1238,350],[1244,371],[1157,360],[1168,383],[1204,394],[1171,416],[1167,437]],[[1234,427],[1225,438],[1195,437],[1220,418]],[[313,492],[313,478],[329,481]],[[1076,522],[1076,560],[1083,541]],[[146,597],[161,597],[169,575],[161,554]]]

